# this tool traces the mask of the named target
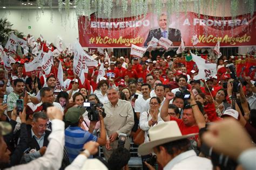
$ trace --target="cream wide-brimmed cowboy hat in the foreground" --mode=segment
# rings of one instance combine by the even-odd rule
[[[141,155],[150,154],[153,152],[153,148],[158,145],[169,143],[174,140],[190,138],[196,134],[198,133],[182,135],[176,121],[164,122],[150,128],[150,142],[140,145],[138,148],[138,153]]]

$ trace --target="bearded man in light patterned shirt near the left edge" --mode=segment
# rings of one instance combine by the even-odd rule
[[[14,81],[14,91],[12,91],[7,98],[7,114],[9,118],[11,117],[11,111],[16,107],[16,101],[19,99],[19,95],[21,95],[24,91],[25,83],[22,79],[16,79]]]

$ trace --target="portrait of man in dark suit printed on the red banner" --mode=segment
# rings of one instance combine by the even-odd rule
[[[146,41],[144,42],[144,46],[147,47],[152,37],[157,38],[158,40],[163,37],[174,42],[174,45],[179,46],[181,42],[181,33],[178,29],[173,29],[169,27],[169,22],[166,13],[161,13],[158,17],[158,29],[153,29],[149,31]],[[175,43],[176,42],[176,43]],[[177,43],[179,42],[179,43]]]

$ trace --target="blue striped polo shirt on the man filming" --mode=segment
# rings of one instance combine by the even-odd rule
[[[72,162],[88,141],[97,141],[98,138],[82,128],[69,126],[65,130],[65,147]]]

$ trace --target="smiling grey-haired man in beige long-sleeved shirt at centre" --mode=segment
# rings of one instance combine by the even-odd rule
[[[103,146],[103,153],[109,159],[113,150],[118,146],[118,135],[125,133],[125,148],[130,150],[130,133],[134,125],[134,114],[132,105],[128,101],[119,99],[119,91],[110,87],[107,89],[107,98],[109,102],[104,103],[106,117],[104,125],[107,132],[106,146]]]

